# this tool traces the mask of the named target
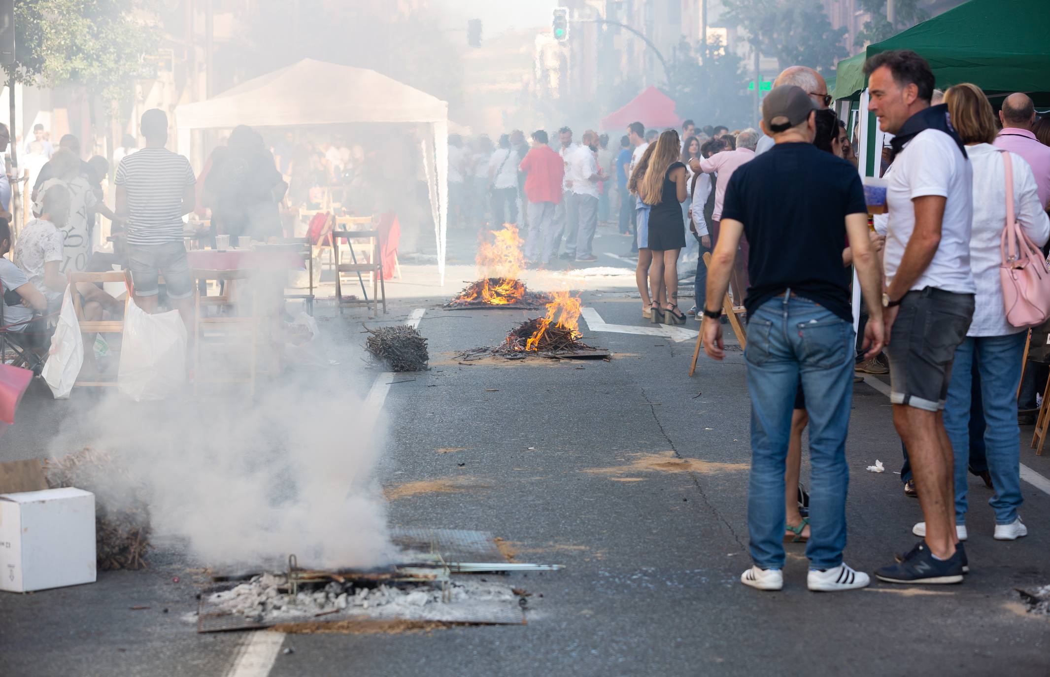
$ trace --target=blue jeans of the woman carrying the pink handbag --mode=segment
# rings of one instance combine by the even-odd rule
[[[1021,496],[1020,445],[1017,427],[1017,383],[1025,332],[1007,336],[966,337],[956,348],[956,362],[944,406],[944,427],[954,452],[956,524],[966,522],[967,469],[970,456],[971,365],[981,375],[981,400],[985,426],[984,445],[988,472],[995,493],[988,504],[995,511],[995,524],[1017,519]]]

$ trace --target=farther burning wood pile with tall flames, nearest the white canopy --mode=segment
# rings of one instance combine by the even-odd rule
[[[525,258],[518,227],[505,224],[503,230],[491,231],[491,242],[483,240],[478,246],[476,260],[481,279],[467,284],[445,308],[539,309],[545,305],[550,298],[528,291],[525,282],[519,279]]]

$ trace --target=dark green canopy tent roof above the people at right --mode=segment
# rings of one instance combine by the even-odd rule
[[[1027,92],[1050,105],[1050,2],[970,0],[839,62],[837,100],[867,86],[864,61],[880,51],[911,49],[929,62],[937,86],[972,82],[989,98]]]

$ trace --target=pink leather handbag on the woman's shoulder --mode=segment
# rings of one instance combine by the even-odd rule
[[[1003,303],[1006,321],[1013,326],[1034,326],[1050,318],[1050,270],[1043,253],[1028,239],[1013,214],[1013,166],[1003,153],[1006,170],[1006,228],[1000,239]]]

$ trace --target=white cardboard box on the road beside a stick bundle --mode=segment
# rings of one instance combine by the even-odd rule
[[[45,489],[0,494],[0,590],[94,583],[94,494]]]

